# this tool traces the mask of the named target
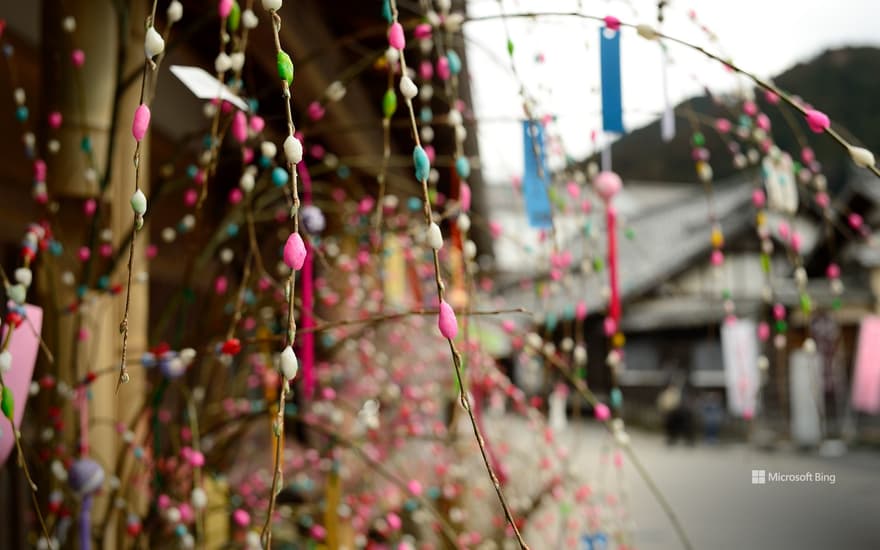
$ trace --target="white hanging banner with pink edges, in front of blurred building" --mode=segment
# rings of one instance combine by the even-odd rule
[[[721,326],[721,351],[727,408],[731,414],[751,418],[758,399],[758,331],[750,319],[737,319]]]

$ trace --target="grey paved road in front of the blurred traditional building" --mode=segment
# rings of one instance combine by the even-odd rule
[[[572,450],[594,457],[599,428],[570,425],[569,431]],[[637,431],[632,445],[698,550],[880,549],[880,452],[824,458],[745,444],[668,447],[659,435]],[[753,484],[752,470],[764,470],[766,483]],[[812,474],[813,481],[774,480],[774,473]],[[816,481],[817,473],[835,482]],[[636,548],[680,549],[638,474],[628,468],[626,479]]]

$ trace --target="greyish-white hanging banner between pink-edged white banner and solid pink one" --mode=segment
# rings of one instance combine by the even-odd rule
[[[822,441],[822,360],[818,353],[797,350],[788,365],[791,392],[791,437],[799,445]]]

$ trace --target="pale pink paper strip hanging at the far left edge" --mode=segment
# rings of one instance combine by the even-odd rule
[[[28,389],[31,386],[31,378],[34,374],[34,365],[37,362],[37,352],[40,349],[40,330],[43,326],[43,310],[31,305],[26,305],[27,318],[12,333],[8,351],[12,354],[12,368],[3,376],[3,383],[12,391],[14,398],[14,411],[12,419],[15,426],[9,425],[9,420],[0,413],[0,466],[9,458],[12,447],[15,446],[13,429],[21,425],[24,416],[24,406],[27,403]],[[6,338],[6,327],[2,332]]]

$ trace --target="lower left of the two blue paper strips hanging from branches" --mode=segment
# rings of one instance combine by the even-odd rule
[[[535,229],[550,229],[553,227],[553,210],[547,195],[550,172],[544,154],[544,128],[538,122],[523,121],[523,151],[523,200],[529,225]]]

